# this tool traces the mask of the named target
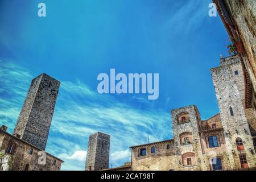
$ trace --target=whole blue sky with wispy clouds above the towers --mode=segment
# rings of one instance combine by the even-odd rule
[[[44,2],[47,16],[38,16]],[[111,135],[110,166],[129,146],[172,138],[170,110],[196,105],[218,113],[210,68],[226,56],[228,35],[208,0],[0,2],[0,125],[12,133],[32,78],[61,81],[46,151],[64,170],[82,170],[90,134]],[[97,76],[159,73],[159,98],[98,94]]]

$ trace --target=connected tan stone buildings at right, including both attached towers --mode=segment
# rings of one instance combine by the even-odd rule
[[[255,96],[251,96],[248,105],[243,63],[237,56],[221,57],[220,67],[210,71],[220,113],[203,121],[195,105],[172,109],[173,139],[130,147],[131,166],[126,169],[238,170],[256,167]]]

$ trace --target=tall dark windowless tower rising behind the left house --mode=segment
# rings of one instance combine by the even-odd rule
[[[42,73],[34,78],[20,111],[14,135],[45,150],[60,82]]]

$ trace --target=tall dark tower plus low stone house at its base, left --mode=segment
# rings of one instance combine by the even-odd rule
[[[60,170],[63,160],[44,152],[59,86],[45,73],[32,80],[13,135],[0,128],[0,170]]]

